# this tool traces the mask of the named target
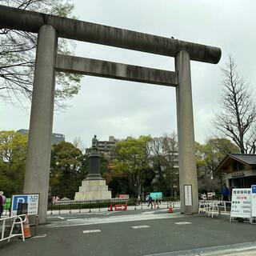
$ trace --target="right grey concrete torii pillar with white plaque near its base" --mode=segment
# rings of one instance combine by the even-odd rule
[[[198,212],[198,179],[194,157],[194,121],[190,75],[190,55],[180,51],[175,57],[178,72],[177,123],[178,123],[178,166],[181,212]]]

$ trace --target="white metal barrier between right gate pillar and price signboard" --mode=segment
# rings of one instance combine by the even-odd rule
[[[230,215],[231,202],[218,201],[218,200],[199,200],[198,214],[206,213],[208,217],[214,215]],[[223,209],[223,210],[222,210]]]

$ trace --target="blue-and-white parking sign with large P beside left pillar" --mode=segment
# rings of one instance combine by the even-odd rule
[[[16,216],[18,203],[27,203],[27,214],[38,214],[39,194],[14,194],[11,200],[10,216]]]

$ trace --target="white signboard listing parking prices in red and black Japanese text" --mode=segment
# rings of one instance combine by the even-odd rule
[[[250,218],[251,189],[233,189],[231,218]]]

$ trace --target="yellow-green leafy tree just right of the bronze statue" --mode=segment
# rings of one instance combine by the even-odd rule
[[[152,173],[150,166],[150,136],[127,138],[115,145],[114,171],[126,174],[134,185],[137,195],[142,194],[143,182]]]

